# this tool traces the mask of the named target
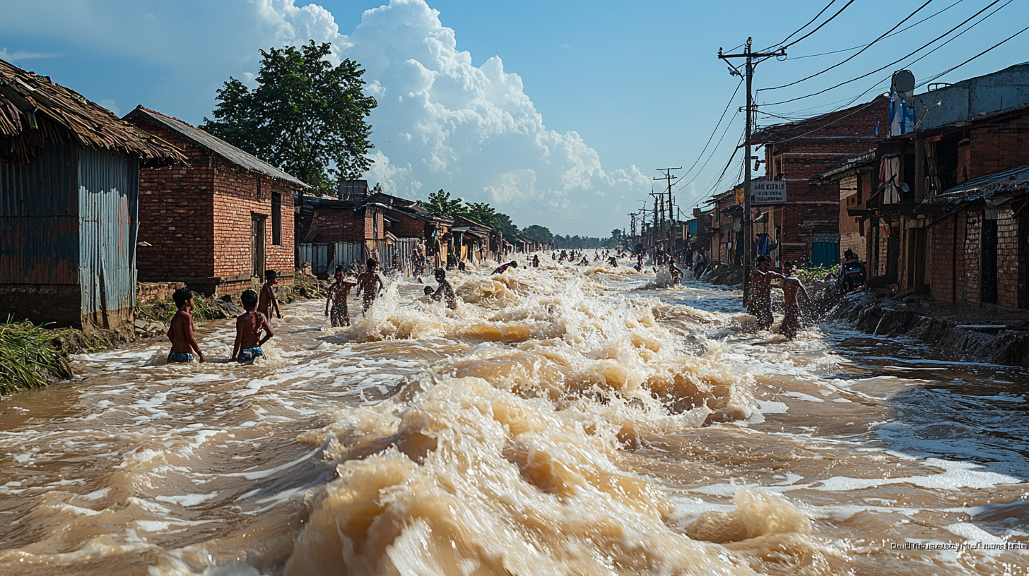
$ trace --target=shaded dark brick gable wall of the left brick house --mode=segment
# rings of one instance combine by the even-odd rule
[[[135,121],[189,157],[188,167],[140,170],[138,278],[210,277],[214,274],[214,170],[210,154],[170,131],[140,118]]]

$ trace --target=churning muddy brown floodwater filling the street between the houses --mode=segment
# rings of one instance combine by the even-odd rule
[[[1027,573],[1025,370],[543,262],[4,398],[0,573]]]

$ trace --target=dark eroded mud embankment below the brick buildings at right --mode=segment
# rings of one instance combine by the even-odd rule
[[[863,332],[917,338],[969,358],[1029,364],[1029,325],[1021,320],[969,319],[932,303],[879,299],[866,291],[840,300],[828,317]]]

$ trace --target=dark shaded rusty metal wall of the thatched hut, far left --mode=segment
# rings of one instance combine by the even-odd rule
[[[0,163],[0,284],[78,284],[77,161],[67,144]]]

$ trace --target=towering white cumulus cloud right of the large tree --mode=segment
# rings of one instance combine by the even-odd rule
[[[604,235],[623,223],[626,199],[649,190],[636,167],[604,170],[575,132],[546,129],[522,78],[499,57],[481,66],[423,0],[366,10],[343,35],[331,13],[292,0],[259,0],[282,43],[329,41],[365,69],[379,101],[369,118],[378,149],[367,178],[399,195],[445,188],[489,202],[521,225]]]

